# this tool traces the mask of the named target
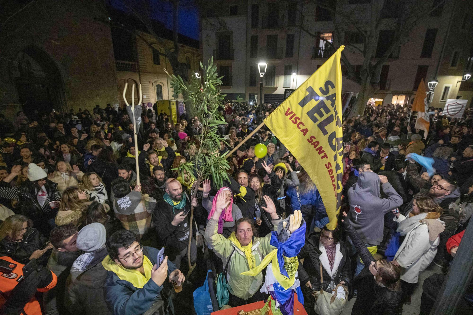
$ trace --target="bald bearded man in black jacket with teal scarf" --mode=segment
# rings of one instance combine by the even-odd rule
[[[166,255],[179,268],[181,262],[187,262],[187,244],[191,242],[191,264],[197,260],[195,236],[189,236],[189,218],[187,214],[192,206],[197,206],[197,198],[192,202],[182,185],[175,178],[166,180],[163,199],[158,201],[153,211],[153,224],[162,244],[166,246]]]

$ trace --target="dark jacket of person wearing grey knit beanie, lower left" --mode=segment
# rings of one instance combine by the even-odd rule
[[[107,255],[104,247],[103,257]],[[108,315],[112,314],[105,302],[104,285],[107,271],[102,260],[88,265],[84,271],[71,270],[64,304],[72,314]]]

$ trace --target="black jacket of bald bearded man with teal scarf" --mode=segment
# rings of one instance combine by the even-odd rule
[[[191,208],[191,201],[186,193],[183,193],[183,198],[187,198],[187,203],[183,209],[176,209],[161,199],[156,204],[152,213],[152,222],[158,237],[165,247],[165,253],[169,260],[174,260],[189,242],[189,215],[177,226],[171,224],[175,215],[181,211],[187,211]]]

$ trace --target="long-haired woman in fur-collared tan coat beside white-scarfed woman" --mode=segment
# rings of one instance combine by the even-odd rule
[[[61,205],[54,223],[57,226],[74,224],[79,226],[85,221],[87,207],[91,204],[85,191],[79,187],[70,187],[62,194]]]

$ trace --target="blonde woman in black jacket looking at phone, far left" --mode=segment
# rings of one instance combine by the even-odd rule
[[[32,227],[33,223],[25,216],[9,216],[0,225],[0,255],[8,255],[18,263],[26,264],[36,258],[38,264],[46,265],[49,255],[46,251],[53,246],[47,245],[47,239]]]

